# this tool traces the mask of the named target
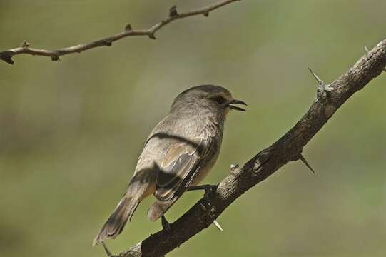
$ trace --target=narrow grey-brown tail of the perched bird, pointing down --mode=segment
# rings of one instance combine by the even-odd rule
[[[123,196],[116,209],[101,228],[101,231],[96,235],[93,240],[93,246],[107,238],[116,238],[123,231],[126,222],[130,221],[138,204],[139,199],[127,195]]]

